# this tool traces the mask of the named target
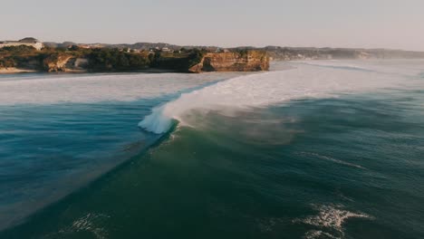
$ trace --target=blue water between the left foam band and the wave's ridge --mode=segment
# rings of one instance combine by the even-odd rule
[[[22,219],[27,211],[55,201],[148,147],[157,136],[141,132],[134,121],[159,102],[3,107],[3,224]]]

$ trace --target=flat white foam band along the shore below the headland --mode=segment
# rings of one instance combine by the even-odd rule
[[[1,76],[0,105],[151,99],[235,75],[127,73]]]

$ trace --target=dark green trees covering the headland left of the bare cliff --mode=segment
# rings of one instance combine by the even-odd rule
[[[37,68],[44,70],[46,62],[54,62],[60,56],[71,56],[88,60],[87,70],[92,72],[125,72],[149,67],[185,71],[201,61],[206,50],[182,49],[174,53],[158,51],[134,53],[127,49],[93,48],[78,46],[69,48],[44,47],[36,51],[31,46],[8,46],[0,48],[0,67]]]

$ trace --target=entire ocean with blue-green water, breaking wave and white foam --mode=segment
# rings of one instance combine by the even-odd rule
[[[424,238],[424,61],[0,76],[0,238]]]

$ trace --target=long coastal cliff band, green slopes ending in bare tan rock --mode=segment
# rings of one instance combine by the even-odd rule
[[[103,50],[99,50],[103,51]],[[94,55],[92,55],[94,54]],[[0,56],[1,57],[1,56]],[[143,71],[147,68],[166,69],[174,72],[258,72],[269,69],[269,57],[265,51],[236,50],[231,53],[136,54],[114,50],[75,53],[74,51],[50,51],[38,55],[0,58],[0,63],[17,70],[37,72],[120,72]],[[16,60],[17,59],[17,60]],[[9,62],[12,62],[9,66]],[[2,64],[0,64],[2,67]]]

